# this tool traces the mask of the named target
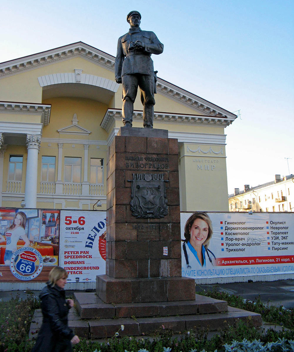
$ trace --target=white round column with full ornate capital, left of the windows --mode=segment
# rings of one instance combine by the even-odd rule
[[[26,208],[37,207],[37,176],[38,152],[40,150],[41,135],[27,134],[27,164],[25,178],[25,203]]]

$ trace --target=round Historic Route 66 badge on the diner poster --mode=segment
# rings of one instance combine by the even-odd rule
[[[23,281],[37,277],[43,269],[43,258],[39,251],[32,247],[21,247],[12,254],[10,270]]]

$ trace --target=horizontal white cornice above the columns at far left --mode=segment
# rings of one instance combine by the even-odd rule
[[[0,101],[0,113],[41,115],[41,123],[49,125],[51,105]]]

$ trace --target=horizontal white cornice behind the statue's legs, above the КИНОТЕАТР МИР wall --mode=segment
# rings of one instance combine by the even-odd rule
[[[121,109],[107,109],[106,114],[100,124],[106,132],[110,132],[110,128],[114,121],[121,121]],[[154,122],[162,122],[166,124],[184,124],[190,126],[213,126],[213,127],[226,127],[232,123],[234,119],[229,117],[212,117],[205,115],[189,115],[189,114],[174,114],[174,113],[154,113]],[[135,110],[133,112],[133,121],[143,122],[143,111]]]

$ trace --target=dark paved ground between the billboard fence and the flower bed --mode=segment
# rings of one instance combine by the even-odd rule
[[[294,279],[269,282],[196,285],[196,291],[201,290],[226,291],[230,294],[241,295],[243,298],[247,298],[251,301],[255,301],[256,297],[259,295],[263,303],[269,302],[269,304],[278,307],[283,304],[286,308],[294,308]],[[94,290],[87,291],[94,292]],[[83,291],[67,291],[67,295],[73,292]],[[20,298],[26,298],[30,295],[38,296],[39,293],[40,291],[0,291],[0,300],[7,301],[17,295],[19,295]]]

